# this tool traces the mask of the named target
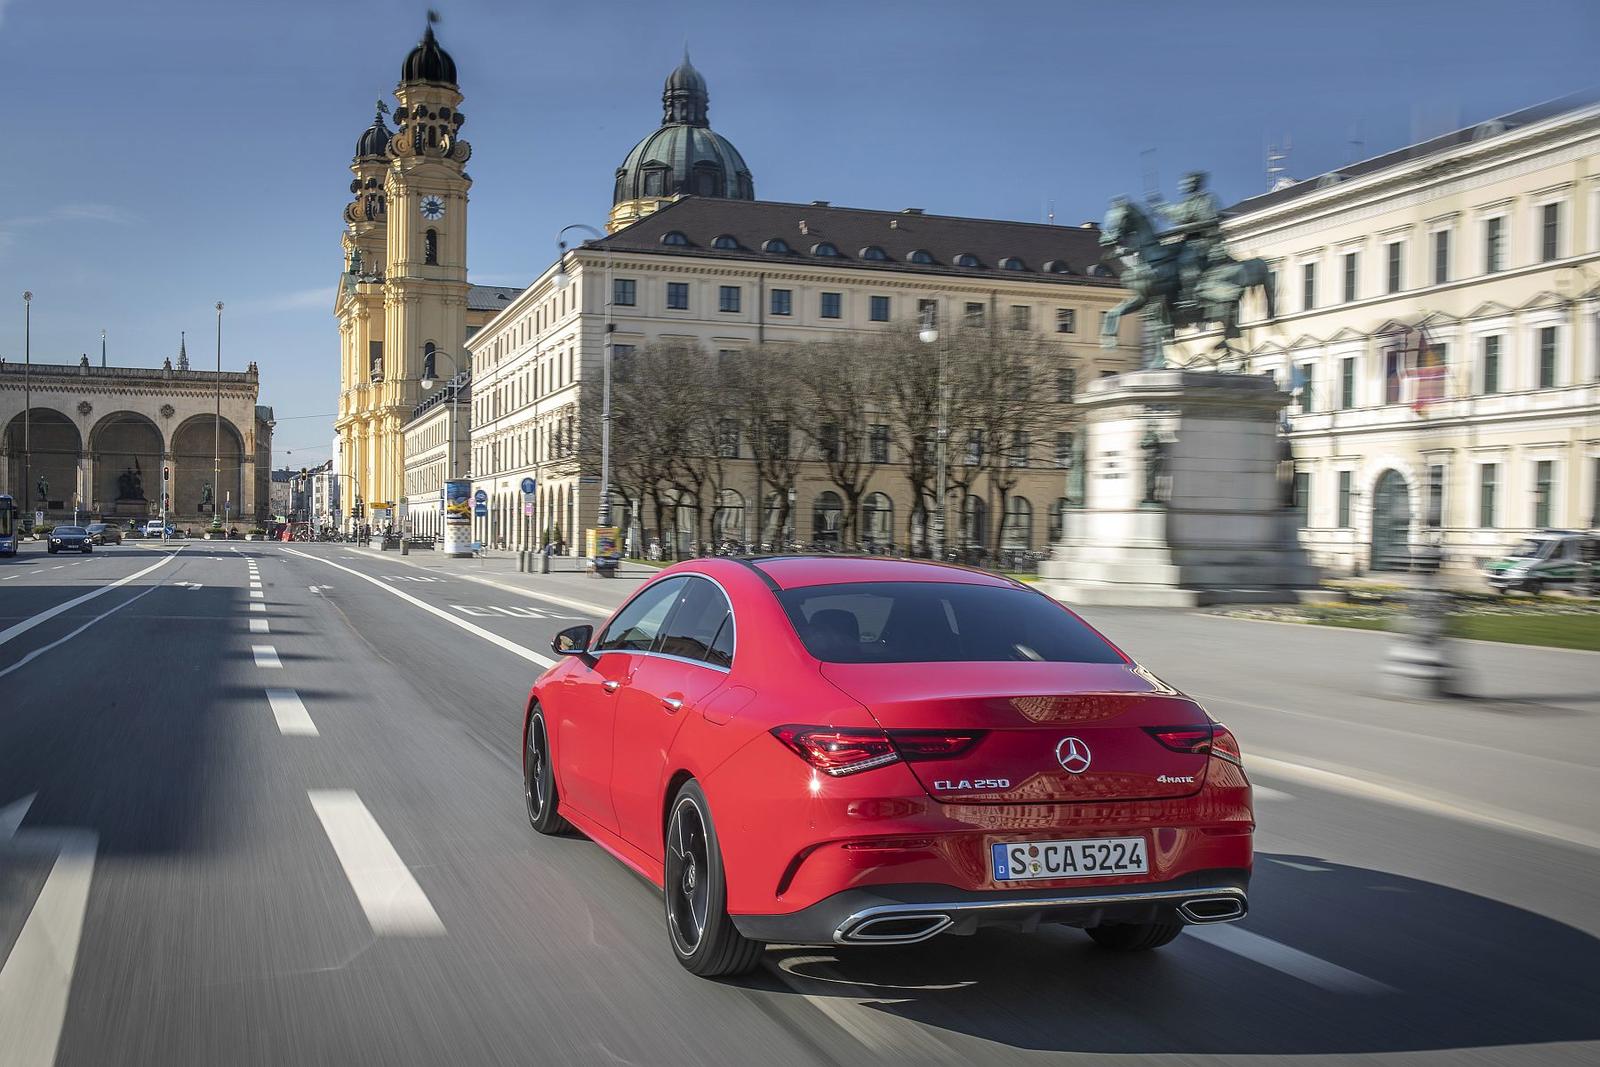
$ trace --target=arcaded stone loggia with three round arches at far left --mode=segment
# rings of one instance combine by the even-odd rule
[[[182,354],[152,368],[0,362],[0,493],[54,522],[152,518],[165,469],[173,522],[253,523],[272,454],[259,387],[254,363],[200,371]]]

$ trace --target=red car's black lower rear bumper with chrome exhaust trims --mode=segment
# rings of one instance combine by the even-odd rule
[[[981,926],[1032,929],[1038,923],[1227,923],[1250,910],[1248,870],[1195,870],[1181,878],[1080,891],[962,891],[941,885],[845,889],[798,912],[733,915],[755,941],[795,945],[912,944]]]

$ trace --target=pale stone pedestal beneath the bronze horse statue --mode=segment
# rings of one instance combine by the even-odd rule
[[[1278,480],[1278,413],[1266,376],[1131,371],[1091,382],[1083,507],[1066,515],[1040,589],[1066,603],[1285,603],[1315,589]],[[1163,442],[1146,502],[1146,435]]]

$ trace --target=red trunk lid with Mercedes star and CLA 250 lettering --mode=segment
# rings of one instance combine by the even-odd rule
[[[1173,752],[1146,728],[1210,717],[1131,664],[822,664],[822,675],[891,733],[984,731],[960,755],[907,761],[938,800],[1150,800],[1205,781],[1205,753]]]

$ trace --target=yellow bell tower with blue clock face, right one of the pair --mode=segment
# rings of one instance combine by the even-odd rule
[[[389,141],[384,174],[387,264],[384,272],[384,354],[376,427],[382,446],[370,501],[398,501],[405,483],[400,427],[421,400],[424,346],[466,360],[467,338],[467,190],[472,146],[461,138],[461,90],[456,62],[434,37],[429,13],[422,40],[406,56],[395,88],[397,130]]]

